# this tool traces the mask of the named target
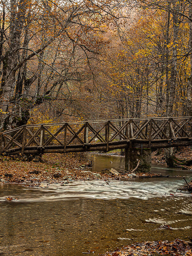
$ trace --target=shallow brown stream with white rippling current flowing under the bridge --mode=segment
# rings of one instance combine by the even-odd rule
[[[124,168],[122,157],[93,158],[93,171]],[[1,184],[0,255],[99,255],[136,241],[189,240],[192,195],[176,188],[184,184],[183,176],[191,180],[192,172],[159,165],[152,172],[170,177],[73,181],[49,188]],[[18,200],[8,202],[6,196]]]

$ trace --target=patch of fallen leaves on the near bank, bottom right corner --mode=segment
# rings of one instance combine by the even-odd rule
[[[114,252],[107,252],[105,256],[151,256],[151,255],[172,255],[192,256],[191,243],[180,239],[174,241],[143,242],[128,245]]]

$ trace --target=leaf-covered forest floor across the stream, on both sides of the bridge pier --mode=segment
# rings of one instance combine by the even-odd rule
[[[192,159],[191,148],[180,148],[178,158]],[[90,164],[82,153],[45,154],[42,162],[21,161],[20,158],[0,157],[0,183],[35,183],[45,186],[45,183],[64,183],[73,180],[127,180],[136,177],[154,177],[153,173],[126,173],[111,175],[92,172],[87,168]],[[164,152],[152,152],[152,160],[165,164]],[[192,169],[192,166],[183,166]],[[44,183],[44,184],[42,184]]]

